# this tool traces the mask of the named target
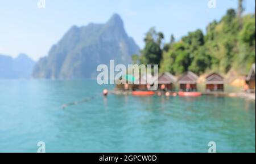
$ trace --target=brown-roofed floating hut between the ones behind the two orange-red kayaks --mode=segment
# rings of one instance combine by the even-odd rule
[[[162,75],[158,76],[158,90],[174,90],[175,83],[177,81],[176,77],[169,72],[164,72]]]

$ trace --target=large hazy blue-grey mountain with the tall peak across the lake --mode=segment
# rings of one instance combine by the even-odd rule
[[[47,57],[36,64],[35,78],[80,79],[96,77],[98,64],[128,64],[131,55],[139,53],[139,47],[130,38],[118,14],[105,24],[90,23],[73,26],[54,46]]]

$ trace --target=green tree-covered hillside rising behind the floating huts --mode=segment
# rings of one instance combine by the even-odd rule
[[[210,23],[205,34],[197,29],[179,41],[171,36],[170,43],[164,45],[162,39],[163,34],[154,28],[147,32],[141,63],[160,64],[160,72],[177,75],[188,70],[225,74],[230,69],[246,74],[255,63],[255,14],[241,16],[230,9],[220,21]],[[133,60],[136,62],[136,55]]]

